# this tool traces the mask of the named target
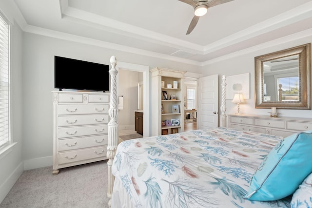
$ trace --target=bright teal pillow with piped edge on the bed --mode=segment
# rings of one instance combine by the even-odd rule
[[[272,201],[291,195],[312,172],[311,158],[311,131],[281,140],[254,173],[245,198]]]

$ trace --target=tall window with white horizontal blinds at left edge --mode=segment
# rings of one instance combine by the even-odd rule
[[[10,142],[9,23],[0,14],[0,147]]]

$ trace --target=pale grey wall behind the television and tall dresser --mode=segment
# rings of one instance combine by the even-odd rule
[[[194,73],[200,72],[198,66],[31,33],[24,33],[23,48],[23,158],[26,170],[52,165],[51,91],[55,90],[54,56],[110,64],[110,57],[114,55],[117,61],[141,64],[151,68],[165,67],[181,71],[189,70]]]

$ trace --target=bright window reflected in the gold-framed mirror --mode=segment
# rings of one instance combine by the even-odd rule
[[[277,78],[277,91],[279,101],[299,101],[299,77]]]

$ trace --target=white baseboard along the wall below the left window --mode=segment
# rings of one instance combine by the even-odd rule
[[[24,171],[24,163],[21,162],[18,167],[12,172],[12,174],[4,181],[0,186],[0,203],[3,201],[5,196],[12,189],[16,181],[20,178]]]

